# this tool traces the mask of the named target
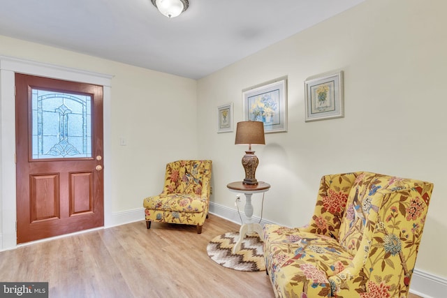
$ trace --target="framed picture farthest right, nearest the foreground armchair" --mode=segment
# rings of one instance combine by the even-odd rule
[[[344,117],[343,72],[305,81],[306,122]]]

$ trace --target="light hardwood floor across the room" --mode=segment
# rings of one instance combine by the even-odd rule
[[[0,252],[0,281],[47,281],[50,297],[274,297],[265,271],[217,265],[208,242],[239,225],[210,215],[196,227],[145,221]],[[410,295],[409,298],[416,298]]]

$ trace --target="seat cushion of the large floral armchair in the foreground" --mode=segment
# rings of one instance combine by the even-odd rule
[[[272,275],[270,278],[277,285],[277,290],[287,289],[291,297],[295,290],[296,293],[302,292],[307,282],[315,289],[330,291],[328,277],[352,266],[353,256],[340,246],[337,239],[323,234],[267,224],[264,225],[263,237],[264,251],[268,253],[265,260],[270,262],[266,264]]]

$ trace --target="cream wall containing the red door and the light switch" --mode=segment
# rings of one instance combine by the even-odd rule
[[[112,126],[107,128],[110,155],[104,156],[110,167],[104,170],[111,174],[111,198],[105,200],[110,200],[112,213],[138,209],[143,219],[142,199],[161,192],[166,163],[197,158],[196,80],[4,36],[0,36],[0,56],[113,76],[110,111],[106,111],[110,114],[105,116]],[[1,142],[11,142],[5,135],[0,137]],[[119,145],[120,137],[126,146]],[[15,200],[15,194],[0,199],[5,204]]]

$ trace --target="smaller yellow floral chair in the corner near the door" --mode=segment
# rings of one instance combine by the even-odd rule
[[[175,161],[166,165],[163,192],[143,200],[147,228],[151,222],[197,225],[202,232],[210,206],[212,161]]]

